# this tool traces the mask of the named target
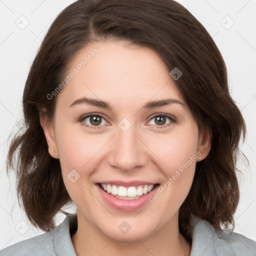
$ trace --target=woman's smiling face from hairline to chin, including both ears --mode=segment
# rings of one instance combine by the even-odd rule
[[[209,151],[169,72],[149,48],[92,43],[70,63],[53,125],[41,121],[78,221],[117,240],[177,228],[196,161]]]

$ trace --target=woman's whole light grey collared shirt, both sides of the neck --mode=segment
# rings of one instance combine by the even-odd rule
[[[192,225],[190,256],[256,255],[256,241],[244,235],[216,230],[208,221],[197,217],[193,217]],[[68,214],[53,230],[10,245],[0,251],[0,256],[76,256],[71,241],[76,229],[76,215]]]

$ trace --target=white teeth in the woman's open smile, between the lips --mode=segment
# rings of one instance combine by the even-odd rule
[[[141,184],[137,186],[121,186],[115,184],[104,184],[97,183],[97,185],[103,189],[105,192],[111,194],[112,196],[124,199],[124,200],[134,200],[140,198],[142,195],[149,193],[153,190],[159,183],[156,184]]]

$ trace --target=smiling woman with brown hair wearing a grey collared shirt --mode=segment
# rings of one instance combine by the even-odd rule
[[[0,255],[256,253],[232,232],[244,120],[219,50],[177,2],[67,6],[32,63],[23,111],[7,164],[28,219],[48,232]],[[55,227],[70,201],[77,213]]]

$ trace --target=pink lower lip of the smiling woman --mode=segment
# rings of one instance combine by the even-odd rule
[[[119,199],[113,196],[110,193],[107,193],[105,190],[103,190],[99,184],[96,184],[96,186],[99,189],[99,193],[103,197],[103,199],[113,208],[123,211],[132,211],[132,210],[138,210],[142,208],[146,203],[149,202],[149,197],[154,194],[155,189],[158,187],[156,185],[150,192],[147,194],[141,195],[137,199],[132,200],[125,200],[125,199]]]

